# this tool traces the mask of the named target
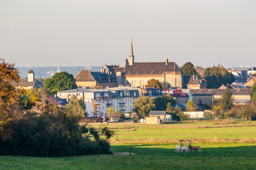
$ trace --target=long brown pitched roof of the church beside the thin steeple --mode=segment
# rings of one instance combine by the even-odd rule
[[[175,70],[174,70],[175,69]],[[126,63],[124,67],[125,75],[131,74],[164,74],[165,72],[170,73],[181,73],[181,69],[175,62],[134,62],[132,65]]]

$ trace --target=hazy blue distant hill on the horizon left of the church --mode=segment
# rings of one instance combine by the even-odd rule
[[[80,72],[81,69],[90,69],[92,72],[100,72],[100,69],[102,67],[100,66],[88,66],[88,67],[60,67],[60,72],[68,72],[70,74],[73,74],[75,77],[78,72]],[[33,69],[33,72],[35,73],[35,78],[39,77],[52,77],[55,72],[58,71],[58,67],[17,67],[18,74],[21,78],[27,77],[28,71],[30,69]]]

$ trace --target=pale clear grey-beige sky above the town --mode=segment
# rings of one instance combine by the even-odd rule
[[[17,67],[135,62],[256,67],[255,0],[0,0],[0,57]]]

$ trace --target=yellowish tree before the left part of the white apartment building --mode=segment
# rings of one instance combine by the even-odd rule
[[[77,96],[71,96],[70,101],[66,106],[68,109],[68,116],[72,115],[79,119],[85,117],[86,106],[82,98],[78,99]]]

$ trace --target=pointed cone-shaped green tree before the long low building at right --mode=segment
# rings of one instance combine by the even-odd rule
[[[225,89],[223,96],[220,97],[220,107],[223,110],[228,110],[233,107],[234,96],[229,88]]]

